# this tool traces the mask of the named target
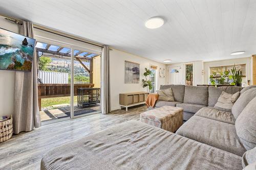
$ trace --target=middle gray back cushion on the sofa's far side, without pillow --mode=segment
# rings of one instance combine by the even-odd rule
[[[208,86],[185,86],[184,103],[208,105]]]

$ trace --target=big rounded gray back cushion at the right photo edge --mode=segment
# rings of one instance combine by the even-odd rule
[[[235,125],[237,134],[244,147],[247,150],[256,147],[256,97],[244,108],[238,116]]]

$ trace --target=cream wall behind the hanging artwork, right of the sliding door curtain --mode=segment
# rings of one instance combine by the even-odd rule
[[[124,61],[131,61],[140,64],[140,83],[124,84]],[[159,68],[166,68],[165,64],[158,63],[146,58],[135,56],[119,50],[110,51],[110,85],[111,85],[111,110],[119,109],[119,93],[146,91],[142,88],[141,80],[144,79],[144,68],[150,68],[150,65],[157,66],[157,86],[165,84],[165,78],[159,78]]]

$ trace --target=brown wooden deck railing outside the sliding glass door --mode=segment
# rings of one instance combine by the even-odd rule
[[[38,105],[41,110],[41,99],[70,96],[70,84],[38,84]],[[78,88],[92,88],[94,84],[74,84],[74,95]]]

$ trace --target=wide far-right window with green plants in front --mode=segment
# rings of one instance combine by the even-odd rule
[[[209,67],[209,83],[210,84],[230,84],[232,83],[229,77],[228,70],[231,70],[234,65],[214,66]],[[242,70],[243,80],[246,83],[246,64],[236,64],[237,70]]]

